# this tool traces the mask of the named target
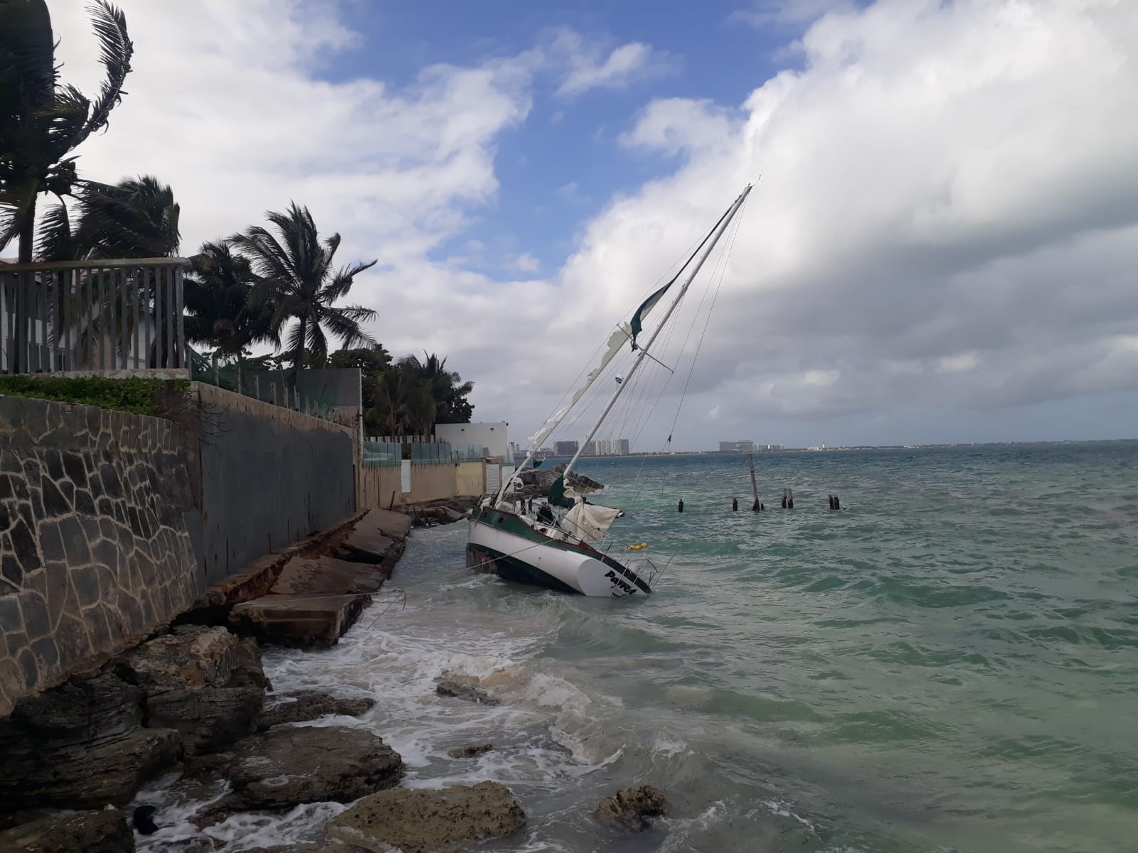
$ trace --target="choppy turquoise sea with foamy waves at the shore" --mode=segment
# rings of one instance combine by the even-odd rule
[[[376,696],[330,722],[381,734],[409,785],[510,785],[529,823],[488,850],[1138,850],[1138,444],[756,459],[762,513],[745,456],[582,465],[627,543],[670,558],[650,597],[468,573],[453,524],[412,537],[406,607],[266,671]],[[444,672],[502,704],[434,695]],[[480,740],[495,751],[446,755]],[[669,817],[589,820],[634,784]],[[297,840],[340,809],[217,831]]]

